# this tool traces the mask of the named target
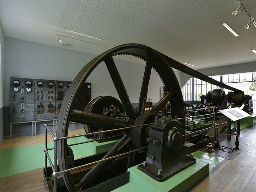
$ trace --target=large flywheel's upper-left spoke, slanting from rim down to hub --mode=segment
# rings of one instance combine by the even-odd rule
[[[129,96],[126,92],[126,89],[124,87],[124,83],[118,73],[118,70],[116,68],[116,64],[113,60],[113,57],[110,56],[108,57],[108,59],[104,60],[104,62],[106,63],[106,66],[108,68],[108,72],[112,78],[112,81],[116,87],[116,91],[118,93],[118,96],[124,106],[124,109],[125,109],[125,112],[127,114],[127,116],[130,118],[130,119],[133,119],[135,120],[136,119],[136,116],[135,116],[135,113],[134,113],[134,109],[133,109],[133,106],[132,106],[132,103],[129,99]]]

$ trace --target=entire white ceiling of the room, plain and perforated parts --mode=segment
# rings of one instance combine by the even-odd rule
[[[256,16],[256,0],[242,2]],[[232,15],[237,5],[237,0],[0,0],[0,22],[6,37],[61,48],[72,44],[68,49],[96,55],[120,44],[139,43],[202,69],[256,63],[251,51],[256,49],[256,28],[244,29],[244,10]]]

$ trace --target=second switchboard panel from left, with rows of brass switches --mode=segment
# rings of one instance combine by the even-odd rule
[[[55,119],[55,80],[35,79],[35,121]]]

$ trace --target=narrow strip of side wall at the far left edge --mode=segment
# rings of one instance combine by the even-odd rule
[[[0,24],[0,44],[1,44],[1,60],[0,60],[0,145],[4,138],[4,124],[3,124],[3,115],[4,115],[4,33],[2,26]]]

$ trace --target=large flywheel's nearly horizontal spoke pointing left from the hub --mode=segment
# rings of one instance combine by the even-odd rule
[[[122,128],[128,126],[127,121],[122,119],[88,113],[79,110],[72,110],[70,121],[87,125],[98,126],[106,129]]]

